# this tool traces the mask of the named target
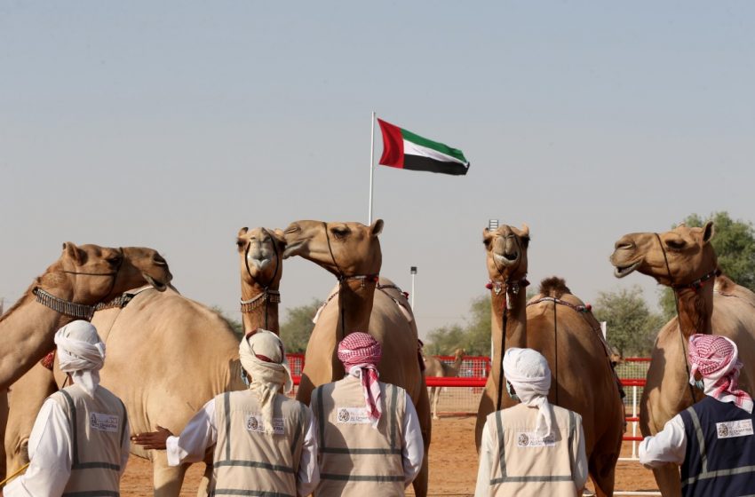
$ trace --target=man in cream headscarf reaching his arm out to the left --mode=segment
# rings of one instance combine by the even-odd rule
[[[227,493],[309,495],[320,481],[314,422],[308,406],[282,395],[292,383],[281,339],[256,330],[242,339],[239,355],[250,390],[212,398],[178,437],[158,426],[132,440],[166,449],[171,466],[203,461],[215,446],[211,485]]]

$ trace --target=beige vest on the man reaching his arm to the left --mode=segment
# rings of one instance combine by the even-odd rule
[[[310,416],[304,404],[278,394],[274,398],[274,433],[266,433],[253,391],[216,397],[218,443],[211,495],[296,497],[298,464]]]

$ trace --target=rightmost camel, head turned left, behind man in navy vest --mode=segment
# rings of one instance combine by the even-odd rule
[[[655,435],[674,415],[703,398],[688,383],[687,341],[690,335],[724,335],[734,340],[744,367],[740,386],[753,393],[755,383],[755,294],[719,273],[710,243],[713,224],[680,225],[666,233],[630,233],[616,241],[611,256],[617,278],[632,272],[653,277],[674,290],[679,316],[658,332],[640,399],[640,431]],[[679,468],[654,469],[664,495],[679,495]]]

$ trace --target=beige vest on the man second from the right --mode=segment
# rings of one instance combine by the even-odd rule
[[[576,430],[582,416],[551,406],[555,436],[550,439],[536,436],[534,407],[520,404],[489,414],[488,427],[497,448],[490,471],[491,496],[576,495]]]

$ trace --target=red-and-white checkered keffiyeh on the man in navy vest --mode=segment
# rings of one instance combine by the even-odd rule
[[[752,413],[752,398],[737,388],[742,363],[737,359],[736,343],[726,336],[692,335],[689,337],[689,381],[695,382],[695,373],[703,375],[705,395],[721,402],[734,402],[735,406]]]

